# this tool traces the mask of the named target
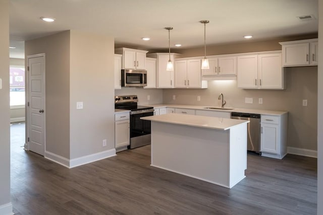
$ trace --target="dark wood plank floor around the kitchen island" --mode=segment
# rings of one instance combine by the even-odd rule
[[[316,214],[316,159],[248,154],[232,189],[150,167],[150,146],[67,169],[23,150],[12,125],[11,193],[16,214]]]

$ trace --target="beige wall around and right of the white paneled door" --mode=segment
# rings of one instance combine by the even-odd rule
[[[70,31],[25,42],[26,60],[39,53],[46,55],[46,151],[69,159]]]

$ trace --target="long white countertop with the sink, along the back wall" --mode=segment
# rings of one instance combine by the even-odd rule
[[[194,110],[206,110],[206,111],[223,111],[223,112],[238,112],[238,113],[254,113],[254,114],[262,114],[262,115],[277,115],[281,116],[287,111],[274,111],[274,110],[259,110],[259,109],[246,109],[246,108],[233,108],[233,110],[221,110],[221,109],[205,109],[205,107],[216,107],[216,106],[198,106],[198,105],[171,105],[171,104],[152,104],[149,105],[154,108],[161,107],[169,107],[169,108],[186,108],[186,109],[194,109]],[[231,107],[225,107],[231,108]]]

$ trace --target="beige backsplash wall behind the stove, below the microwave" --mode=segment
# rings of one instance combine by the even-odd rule
[[[137,95],[139,105],[161,104],[163,103],[163,89],[143,89],[139,87],[123,87],[115,90],[116,96]],[[147,96],[150,100],[147,100]]]

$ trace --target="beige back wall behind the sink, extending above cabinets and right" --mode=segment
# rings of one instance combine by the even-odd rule
[[[281,39],[279,41],[286,41]],[[212,46],[209,54],[227,54],[249,51],[279,50],[277,40]],[[237,51],[234,50],[237,47]],[[229,51],[228,51],[229,50]],[[244,51],[245,50],[245,51]],[[183,56],[200,55],[197,49],[183,52]],[[244,90],[238,89],[236,81],[209,81],[208,89],[165,89],[163,102],[169,104],[220,105],[218,95],[223,93],[227,106],[289,111],[288,146],[317,150],[317,66],[290,67],[285,69],[286,90]],[[176,100],[172,100],[172,95]],[[197,101],[201,96],[201,101]],[[253,98],[253,104],[245,104],[244,98]],[[258,104],[258,98],[263,104]],[[302,100],[308,100],[308,106],[302,106]]]

